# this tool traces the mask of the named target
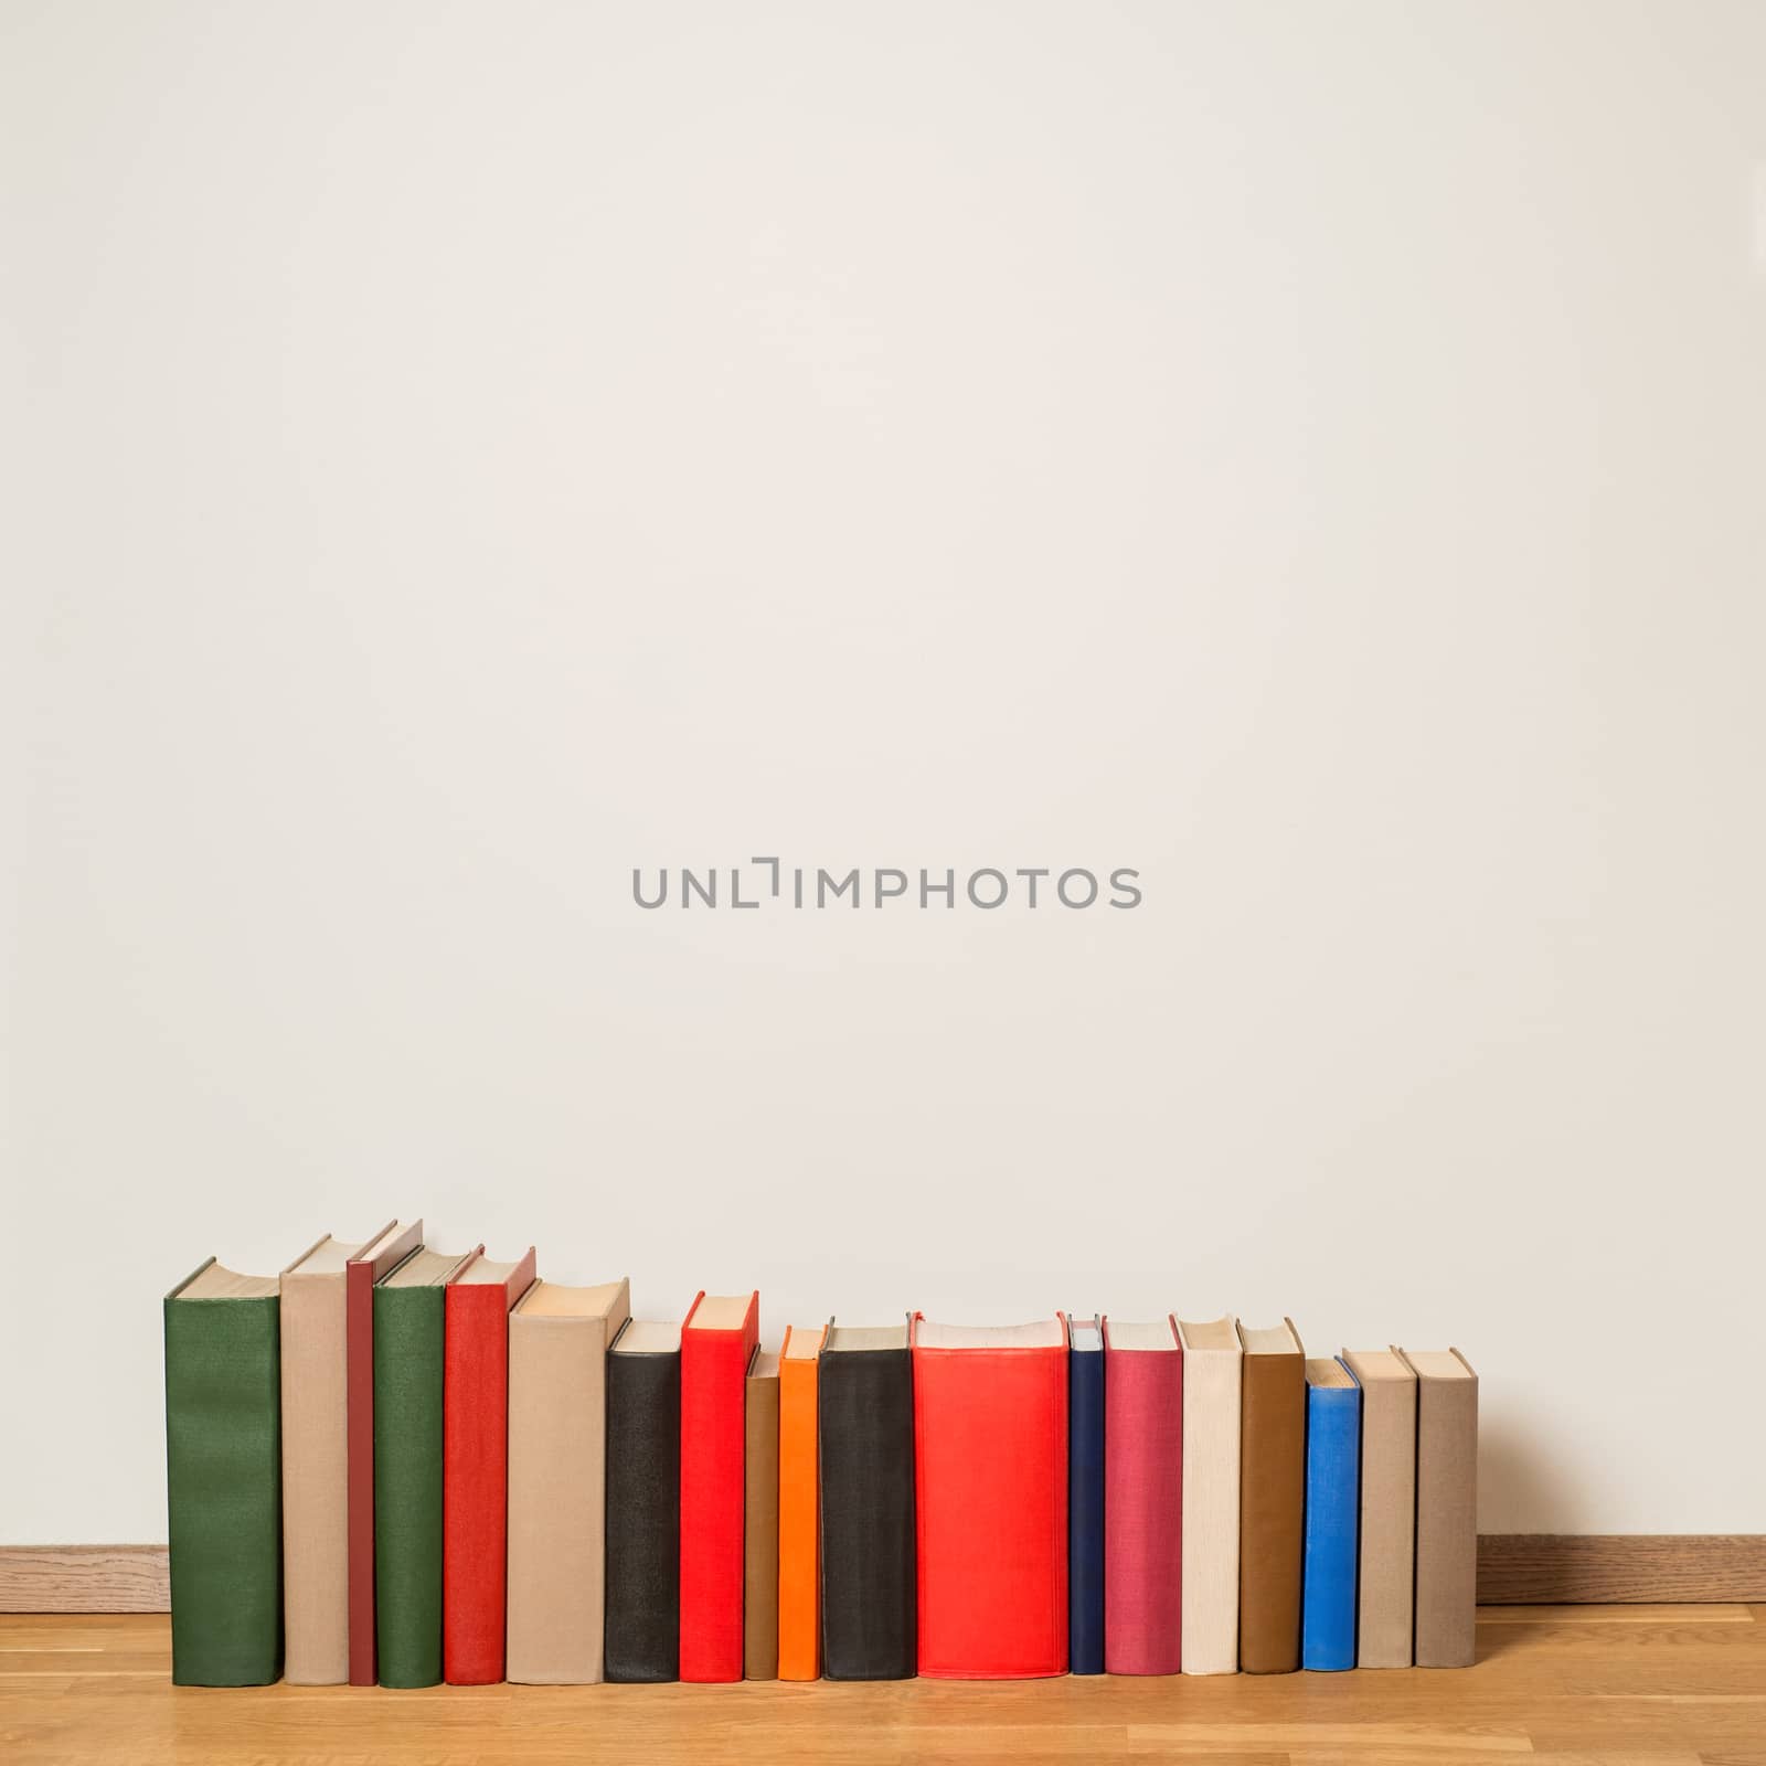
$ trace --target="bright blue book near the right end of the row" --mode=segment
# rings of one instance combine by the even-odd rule
[[[1307,1524],[1300,1665],[1355,1667],[1362,1388],[1342,1362],[1307,1362]]]

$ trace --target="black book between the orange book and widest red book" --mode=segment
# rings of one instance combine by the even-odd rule
[[[911,1679],[913,1356],[906,1324],[844,1330],[828,1321],[816,1430],[823,1674]]]

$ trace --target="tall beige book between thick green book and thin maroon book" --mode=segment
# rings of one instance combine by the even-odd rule
[[[325,1236],[281,1275],[283,1678],[295,1687],[350,1678],[346,1268],[358,1250]]]

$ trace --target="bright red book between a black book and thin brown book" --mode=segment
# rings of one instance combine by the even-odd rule
[[[749,1362],[761,1296],[699,1294],[680,1332],[680,1678],[742,1679]]]

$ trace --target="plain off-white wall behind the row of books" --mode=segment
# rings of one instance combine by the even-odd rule
[[[9,0],[0,1538],[162,1538],[161,1293],[394,1211],[1455,1342],[1487,1531],[1766,1529],[1762,58]],[[632,906],[756,853],[1146,899]]]

